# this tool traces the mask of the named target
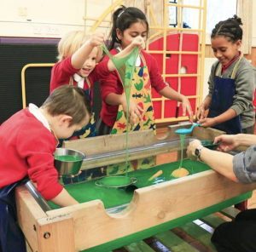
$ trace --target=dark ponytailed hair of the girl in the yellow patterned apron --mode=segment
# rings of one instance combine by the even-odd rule
[[[121,43],[116,35],[117,28],[119,29],[119,31],[121,31],[122,34],[124,34],[124,31],[128,29],[132,24],[135,24],[137,22],[143,22],[147,26],[148,33],[148,20],[145,14],[143,14],[140,9],[137,9],[135,7],[125,8],[125,6],[122,5],[121,8],[113,12],[112,20],[113,26],[109,33],[109,40],[111,40],[110,46],[108,48],[109,50],[114,48],[115,43]]]

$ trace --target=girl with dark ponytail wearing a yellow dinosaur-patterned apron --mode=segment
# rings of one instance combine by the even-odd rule
[[[148,21],[140,9],[122,6],[113,13],[113,27],[110,32],[111,54],[117,54],[129,46],[136,37],[146,41],[148,37]],[[114,49],[115,43],[119,47]],[[108,60],[105,56],[104,60]],[[97,135],[118,134],[125,132],[126,100],[124,89],[117,72],[100,80],[102,94],[102,112],[97,120]],[[151,88],[168,99],[180,101],[183,105],[183,116],[189,113],[192,122],[193,112],[189,100],[166,85],[158,70],[156,60],[144,51],[137,58],[135,72],[132,76],[129,117],[129,130],[153,129],[154,107],[151,99]]]

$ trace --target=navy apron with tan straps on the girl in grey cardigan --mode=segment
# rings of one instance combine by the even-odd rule
[[[218,117],[220,114],[226,112],[233,105],[234,95],[236,94],[236,70],[240,63],[240,59],[237,60],[236,66],[233,69],[230,78],[223,78],[220,76],[222,66],[219,64],[214,80],[214,88],[212,93],[212,101],[210,110],[207,117]],[[241,133],[241,120],[240,116],[231,118],[229,121],[219,123],[212,127],[213,129],[219,129],[225,131],[228,135],[236,135]]]

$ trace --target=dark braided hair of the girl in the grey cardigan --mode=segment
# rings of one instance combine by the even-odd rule
[[[215,28],[212,30],[211,38],[218,36],[224,36],[232,43],[236,43],[237,40],[242,39],[242,22],[236,14],[224,21],[219,21]]]

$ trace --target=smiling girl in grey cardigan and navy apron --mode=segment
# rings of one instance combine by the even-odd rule
[[[241,25],[241,19],[234,15],[218,22],[212,30],[212,49],[218,60],[212,65],[208,80],[209,94],[197,112],[202,127],[223,130],[229,135],[253,134],[255,123],[256,70],[239,51]],[[247,209],[247,201],[237,204],[236,208]]]

